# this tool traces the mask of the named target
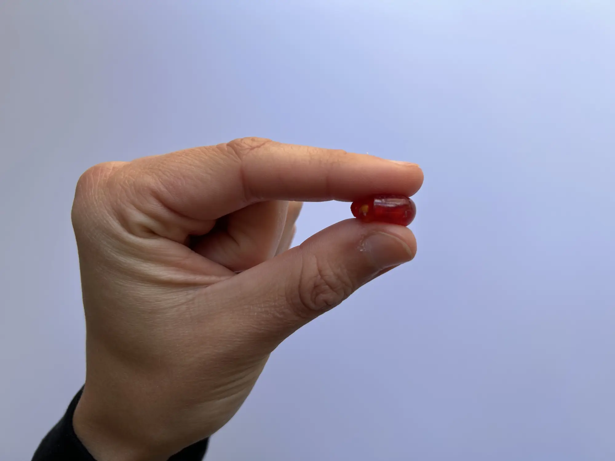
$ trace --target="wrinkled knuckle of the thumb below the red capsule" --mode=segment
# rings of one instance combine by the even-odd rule
[[[300,317],[312,318],[340,304],[353,291],[352,280],[343,269],[311,255],[304,258],[296,299],[291,305]]]

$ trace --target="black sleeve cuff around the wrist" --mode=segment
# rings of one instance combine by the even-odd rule
[[[32,461],[96,461],[85,449],[73,430],[73,414],[83,388],[77,392],[58,424],[42,439]],[[207,450],[208,439],[201,440],[169,458],[169,461],[200,461]]]

